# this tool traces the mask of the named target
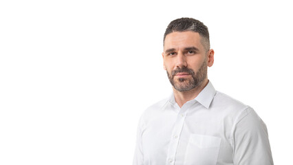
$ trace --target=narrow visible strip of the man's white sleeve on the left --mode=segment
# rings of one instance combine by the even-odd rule
[[[140,119],[140,123],[141,123],[141,119]],[[133,165],[143,165],[142,131],[141,131],[141,124],[140,123],[138,124]]]

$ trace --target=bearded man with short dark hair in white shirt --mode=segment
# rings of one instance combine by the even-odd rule
[[[257,113],[215,91],[207,78],[214,50],[206,25],[189,18],[171,21],[162,56],[173,94],[142,114],[133,165],[273,164]]]

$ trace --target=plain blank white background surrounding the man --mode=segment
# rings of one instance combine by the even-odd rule
[[[0,164],[131,164],[138,119],[171,94],[170,21],[210,30],[215,88],[257,111],[292,162],[289,1],[1,1]]]

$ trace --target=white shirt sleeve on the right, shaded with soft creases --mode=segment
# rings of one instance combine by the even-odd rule
[[[265,123],[248,107],[233,131],[233,161],[235,165],[272,165],[272,153]]]

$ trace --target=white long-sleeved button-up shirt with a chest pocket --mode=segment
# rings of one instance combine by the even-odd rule
[[[268,131],[247,105],[208,85],[181,108],[173,94],[146,109],[133,165],[271,165]]]

